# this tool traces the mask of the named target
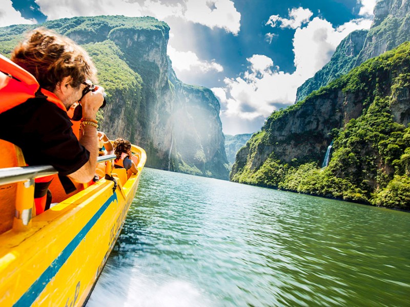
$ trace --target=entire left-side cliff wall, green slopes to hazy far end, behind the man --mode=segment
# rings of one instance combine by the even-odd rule
[[[149,167],[228,179],[219,102],[209,89],[177,79],[167,56],[167,24],[152,17],[97,16],[43,26],[80,43],[92,56],[108,93],[99,120],[109,137],[143,147]],[[31,28],[0,29],[3,45],[9,43],[11,51],[16,37]]]

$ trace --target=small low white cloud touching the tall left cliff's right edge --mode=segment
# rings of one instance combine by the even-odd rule
[[[176,72],[194,71],[206,73],[209,71],[222,72],[222,65],[212,61],[203,61],[192,51],[177,51],[168,45],[168,55],[172,61],[172,67]]]

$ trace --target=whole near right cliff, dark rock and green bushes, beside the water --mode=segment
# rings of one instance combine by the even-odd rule
[[[274,112],[237,153],[230,179],[410,210],[409,123],[404,42]]]

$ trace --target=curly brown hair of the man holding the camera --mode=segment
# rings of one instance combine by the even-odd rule
[[[28,33],[11,60],[30,72],[43,89],[53,92],[65,77],[78,89],[87,79],[96,82],[97,70],[87,52],[71,39],[45,28]]]

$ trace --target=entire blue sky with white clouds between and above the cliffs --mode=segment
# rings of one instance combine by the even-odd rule
[[[97,4],[96,4],[97,3]],[[350,32],[368,29],[376,0],[0,0],[0,26],[73,16],[154,16],[185,83],[212,89],[226,134],[253,133],[293,104],[297,87]],[[103,84],[104,85],[104,84]]]

